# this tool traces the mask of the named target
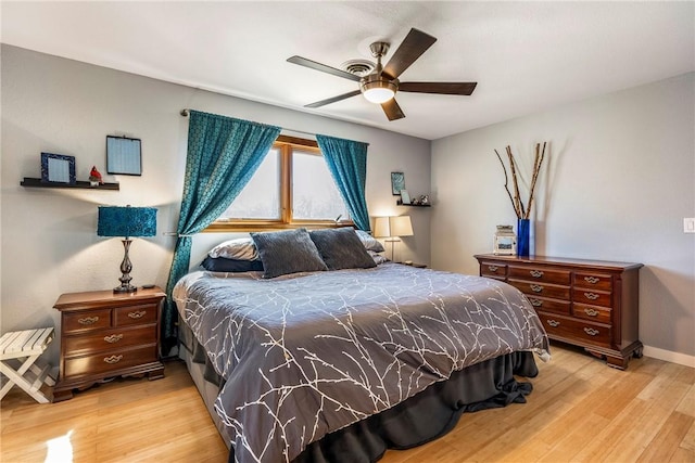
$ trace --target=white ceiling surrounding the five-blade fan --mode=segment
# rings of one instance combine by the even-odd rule
[[[695,70],[695,2],[9,2],[2,42],[424,139]],[[402,81],[477,81],[471,97],[397,94],[388,121],[357,83],[287,63],[370,59],[410,27],[439,40]]]

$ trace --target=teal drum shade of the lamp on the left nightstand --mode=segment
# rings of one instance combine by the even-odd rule
[[[99,206],[97,224],[99,236],[154,236],[156,208]]]

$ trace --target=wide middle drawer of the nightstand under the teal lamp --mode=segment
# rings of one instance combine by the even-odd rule
[[[156,343],[156,325],[108,330],[81,336],[66,336],[63,343],[65,343],[65,351],[70,352],[70,356],[143,346]]]

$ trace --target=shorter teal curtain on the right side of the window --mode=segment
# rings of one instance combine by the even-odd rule
[[[359,230],[369,231],[369,211],[365,200],[367,180],[367,143],[316,136],[328,170]]]

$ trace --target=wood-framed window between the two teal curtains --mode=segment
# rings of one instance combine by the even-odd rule
[[[243,191],[207,231],[351,224],[316,142],[279,137]]]

